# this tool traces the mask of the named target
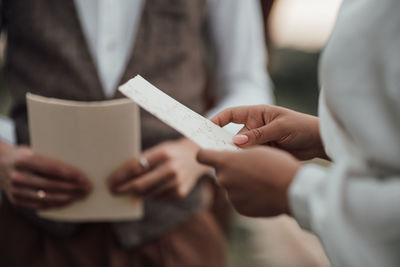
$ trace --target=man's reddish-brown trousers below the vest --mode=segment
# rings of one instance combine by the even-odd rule
[[[138,248],[123,250],[107,223],[85,224],[68,237],[49,235],[0,205],[1,267],[223,267],[225,246],[207,211]]]

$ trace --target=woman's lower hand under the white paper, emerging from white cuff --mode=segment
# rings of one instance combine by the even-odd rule
[[[218,184],[239,213],[253,217],[290,214],[288,188],[300,163],[287,152],[270,147],[200,150],[197,159],[216,169]]]

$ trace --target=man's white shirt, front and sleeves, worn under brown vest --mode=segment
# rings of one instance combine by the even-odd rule
[[[114,94],[128,63],[144,1],[74,0],[107,97]],[[232,106],[273,103],[259,1],[208,0],[207,4],[218,57],[217,106],[207,116]],[[12,141],[1,128],[0,140]],[[230,125],[227,130],[236,132],[239,126]]]

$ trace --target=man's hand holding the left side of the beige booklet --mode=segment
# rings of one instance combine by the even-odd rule
[[[37,155],[28,147],[0,142],[0,188],[12,204],[42,210],[83,198],[91,185],[71,166]]]

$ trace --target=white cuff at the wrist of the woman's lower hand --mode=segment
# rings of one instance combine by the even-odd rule
[[[291,212],[301,227],[311,230],[311,202],[313,192],[319,191],[326,171],[316,164],[304,165],[296,174],[289,188]]]

